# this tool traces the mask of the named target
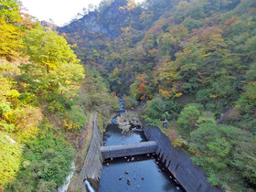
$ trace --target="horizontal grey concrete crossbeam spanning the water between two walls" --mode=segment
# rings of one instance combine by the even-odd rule
[[[111,146],[102,146],[101,154],[104,159],[130,156],[130,155],[143,155],[155,153],[156,142],[143,142],[138,144],[119,144]]]

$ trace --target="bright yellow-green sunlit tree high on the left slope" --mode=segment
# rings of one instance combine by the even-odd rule
[[[24,80],[28,80],[35,91],[69,93],[77,81],[84,78],[80,60],[64,37],[57,32],[35,27],[24,37],[23,52],[31,63],[23,64]]]

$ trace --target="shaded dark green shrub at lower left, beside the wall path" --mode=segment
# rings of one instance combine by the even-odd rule
[[[74,149],[62,137],[46,133],[27,143],[16,182],[9,190],[54,191],[64,184],[71,171]]]

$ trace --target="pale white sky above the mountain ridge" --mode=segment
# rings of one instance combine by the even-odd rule
[[[20,0],[22,5],[28,9],[27,13],[36,16],[38,20],[49,21],[59,27],[69,23],[78,13],[82,13],[82,8],[88,5],[99,5],[101,0]],[[143,2],[143,0],[135,0]]]

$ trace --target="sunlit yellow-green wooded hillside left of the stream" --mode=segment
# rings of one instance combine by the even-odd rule
[[[111,113],[118,99],[64,37],[22,10],[0,1],[0,191],[55,191],[75,161],[86,113],[101,105]]]

